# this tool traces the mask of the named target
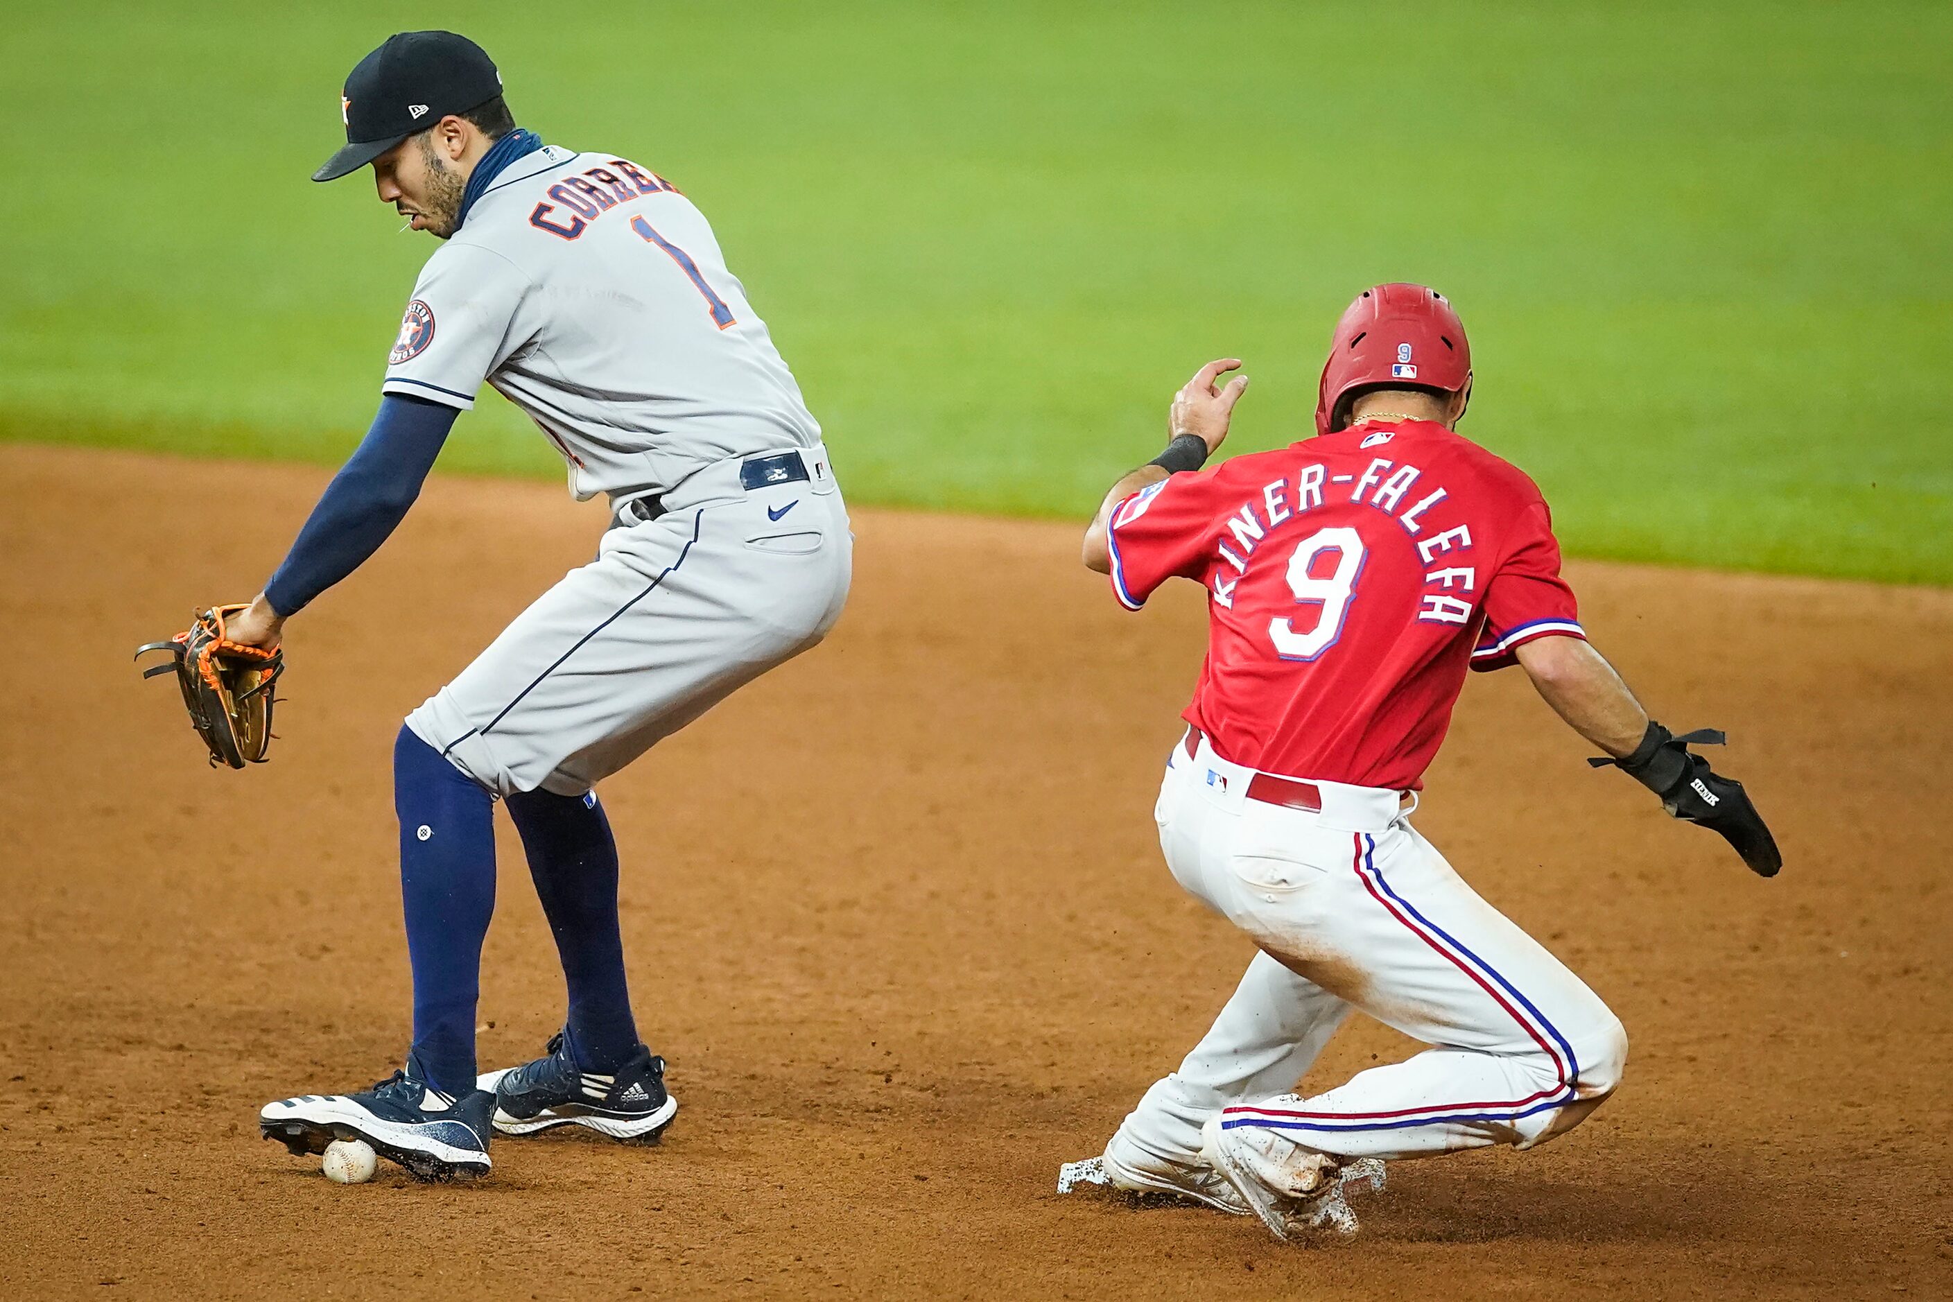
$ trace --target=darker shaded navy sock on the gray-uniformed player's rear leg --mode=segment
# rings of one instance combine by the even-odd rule
[[[617,933],[617,841],[609,820],[596,793],[521,791],[508,798],[508,812],[557,935],[570,992],[570,1056],[586,1072],[611,1074],[637,1048],[637,1023]]]

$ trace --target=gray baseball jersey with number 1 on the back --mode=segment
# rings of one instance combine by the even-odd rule
[[[467,410],[482,381],[549,435],[578,502],[820,443],[705,215],[615,154],[516,160],[422,267],[383,390]]]

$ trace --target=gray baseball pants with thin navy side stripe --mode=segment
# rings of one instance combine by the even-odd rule
[[[707,467],[598,558],[570,570],[451,683],[406,716],[498,796],[590,791],[740,685],[814,646],[842,613],[853,539],[826,449],[805,478],[748,486],[750,461]]]

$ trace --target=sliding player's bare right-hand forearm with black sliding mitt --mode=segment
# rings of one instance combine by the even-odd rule
[[[1607,752],[1594,765],[1619,765],[1652,791],[1670,816],[1711,828],[1736,847],[1750,871],[1775,876],[1783,867],[1775,837],[1742,783],[1713,773],[1689,742],[1721,742],[1715,730],[1672,734],[1648,718],[1621,675],[1580,638],[1537,638],[1514,652],[1547,705],[1574,732]]]

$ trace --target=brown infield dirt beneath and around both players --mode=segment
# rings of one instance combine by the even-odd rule
[[[404,1052],[393,734],[602,517],[434,480],[293,623],[273,761],[209,771],[129,654],[248,597],[322,482],[0,447],[8,1296],[1953,1294],[1953,591],[1570,566],[1650,707],[1732,734],[1787,867],[1475,677],[1418,824],[1621,1013],[1627,1083],[1537,1152],[1394,1165],[1361,1238],[1299,1249],[1053,1191],[1250,956],[1148,820],[1199,593],[1131,617],[1070,525],[857,509],[828,644],[603,787],[662,1148],[506,1140],[477,1185],[344,1189],[254,1119]],[[484,1066],[562,1005],[500,832]],[[1309,1079],[1406,1050],[1353,1021]]]

